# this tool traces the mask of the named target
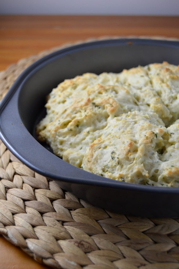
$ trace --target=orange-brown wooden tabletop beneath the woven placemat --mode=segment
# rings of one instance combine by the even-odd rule
[[[0,70],[63,43],[116,35],[179,38],[179,17],[0,16]],[[0,264],[1,269],[47,268],[2,237]]]

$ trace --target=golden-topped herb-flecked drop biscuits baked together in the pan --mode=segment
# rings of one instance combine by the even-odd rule
[[[179,67],[86,73],[50,93],[37,136],[56,155],[107,178],[179,187]]]

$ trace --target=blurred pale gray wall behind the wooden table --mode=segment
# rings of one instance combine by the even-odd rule
[[[179,0],[0,0],[0,14],[179,15]]]

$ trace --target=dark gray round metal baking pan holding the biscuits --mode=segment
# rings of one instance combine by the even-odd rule
[[[28,167],[91,204],[129,215],[178,217],[179,188],[135,185],[83,171],[55,156],[34,132],[45,115],[46,95],[64,79],[163,61],[179,63],[178,41],[112,39],[53,52],[30,65],[1,101],[0,138]]]

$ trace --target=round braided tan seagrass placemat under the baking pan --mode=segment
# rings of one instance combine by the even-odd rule
[[[1,72],[0,98],[32,62],[69,45]],[[94,207],[30,170],[2,142],[0,178],[0,232],[35,260],[65,269],[179,268],[179,218],[132,217]]]

